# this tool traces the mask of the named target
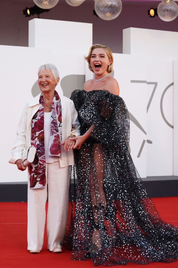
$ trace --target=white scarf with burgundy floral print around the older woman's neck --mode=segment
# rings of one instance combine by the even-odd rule
[[[31,146],[37,151],[34,161],[30,163],[30,189],[44,188],[46,186],[46,160],[44,144],[44,105],[43,94],[39,99],[40,107],[34,114],[31,123]],[[52,116],[49,136],[49,156],[61,157],[61,137],[59,126],[62,121],[61,100],[57,92],[51,104]],[[58,125],[59,122],[59,125]]]

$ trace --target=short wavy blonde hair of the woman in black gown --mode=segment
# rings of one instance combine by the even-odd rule
[[[95,45],[91,46],[91,47],[90,47],[90,50],[89,50],[89,53],[88,53],[88,56],[85,57],[85,59],[86,59],[87,62],[88,62],[88,68],[89,68],[89,70],[90,70],[91,72],[93,72],[93,69],[92,69],[91,64],[90,64],[90,58],[91,58],[91,55],[92,55],[92,51],[93,51],[94,49],[98,49],[98,48],[104,49],[104,51],[106,52],[106,55],[108,56],[108,58],[109,58],[109,59],[112,59],[111,64],[108,66],[108,73],[111,73],[112,70],[113,70],[113,61],[114,61],[112,51],[110,50],[109,47],[106,47],[106,46],[101,45],[101,44],[95,44]],[[94,73],[94,72],[93,72],[93,73]]]

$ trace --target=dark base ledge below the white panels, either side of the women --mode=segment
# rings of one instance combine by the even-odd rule
[[[178,176],[165,177],[169,179],[156,180],[157,177],[149,177],[148,180],[147,177],[147,180],[143,180],[150,197],[178,195]],[[27,202],[27,183],[0,183],[0,202]]]

